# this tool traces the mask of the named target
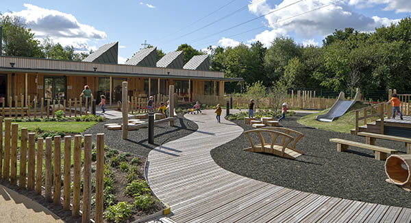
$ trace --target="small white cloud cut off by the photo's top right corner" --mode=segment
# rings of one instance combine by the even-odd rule
[[[395,11],[395,13],[411,12],[410,0],[349,0],[349,5],[356,5],[357,8],[385,5],[383,10],[386,11]]]

